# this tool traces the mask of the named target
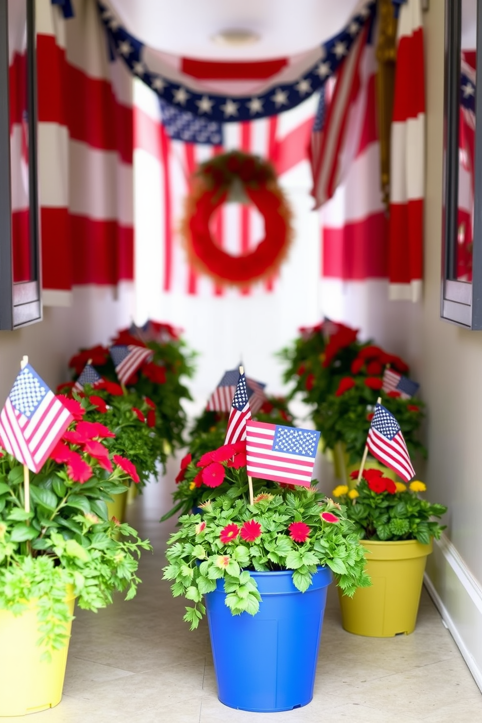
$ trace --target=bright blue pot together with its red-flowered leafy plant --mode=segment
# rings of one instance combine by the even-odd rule
[[[313,485],[253,479],[251,504],[244,442],[190,461],[185,476],[210,500],[179,519],[164,578],[189,601],[191,629],[207,612],[220,701],[249,711],[306,705],[332,576],[348,595],[369,584],[353,523]]]

